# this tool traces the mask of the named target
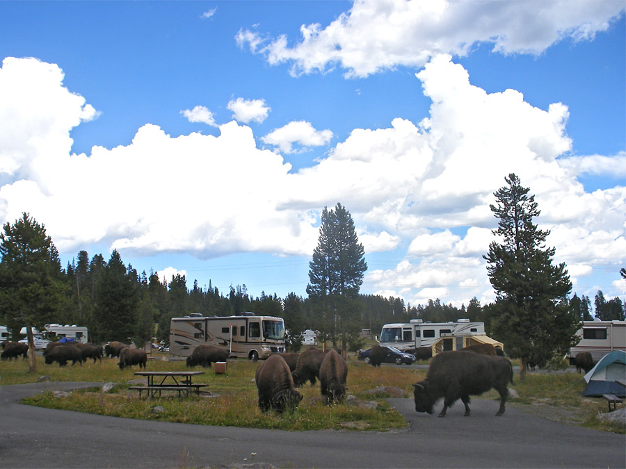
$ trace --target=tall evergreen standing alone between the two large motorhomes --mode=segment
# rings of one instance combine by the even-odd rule
[[[363,245],[350,213],[342,204],[330,211],[324,207],[318,244],[309,263],[307,294],[319,313],[319,329],[330,336],[333,347],[341,337],[345,350],[347,336],[358,333],[357,300],[366,270]]]

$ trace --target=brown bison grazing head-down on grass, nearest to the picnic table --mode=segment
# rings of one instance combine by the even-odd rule
[[[289,365],[280,355],[271,355],[259,365],[255,374],[259,390],[259,409],[267,412],[270,407],[282,413],[285,409],[294,411],[302,395],[294,387]]]

